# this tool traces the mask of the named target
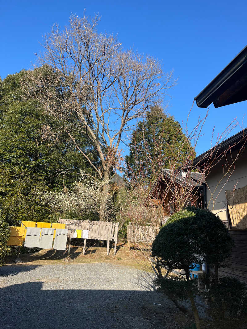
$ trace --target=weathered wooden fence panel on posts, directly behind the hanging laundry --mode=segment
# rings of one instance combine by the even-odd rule
[[[109,255],[109,241],[115,241],[114,255],[116,254],[119,223],[66,218],[59,218],[58,222],[65,224],[65,228],[71,230],[68,231],[68,234],[69,232],[72,234],[75,230],[88,230],[88,239],[107,241],[107,256]],[[84,239],[83,255],[85,254],[86,240]]]

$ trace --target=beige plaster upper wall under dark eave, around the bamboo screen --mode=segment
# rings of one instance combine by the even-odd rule
[[[237,151],[233,152],[233,159]],[[229,162],[232,159],[227,157]],[[213,167],[206,176],[207,184],[207,207],[219,215],[223,221],[227,221],[226,193],[225,190],[233,190],[247,185],[247,150],[244,150],[239,159],[235,162],[235,169],[231,176],[226,173],[225,159]]]

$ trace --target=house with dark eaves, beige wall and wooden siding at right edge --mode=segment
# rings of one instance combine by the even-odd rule
[[[213,102],[221,107],[247,100],[247,46],[195,97],[198,107],[206,108]],[[206,173],[206,206],[219,215],[228,226],[235,246],[227,260],[228,268],[221,275],[231,275],[247,283],[247,149],[244,147],[247,128],[223,141],[214,152],[225,152]],[[231,148],[231,151],[228,151]],[[211,150],[198,156],[193,164],[200,168]],[[234,171],[225,175],[224,166],[234,162]],[[227,164],[229,165],[229,164]]]

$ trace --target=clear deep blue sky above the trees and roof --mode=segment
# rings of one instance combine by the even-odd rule
[[[168,112],[180,123],[186,121],[194,97],[247,43],[246,1],[0,0],[1,78],[31,68],[42,34],[55,22],[68,24],[71,13],[82,16],[84,9],[88,15],[102,16],[99,31],[118,33],[124,47],[151,54],[163,61],[165,71],[174,70],[178,82],[166,101]],[[214,127],[216,137],[235,117],[242,124],[246,108],[247,102],[218,109],[211,104],[197,154],[210,148]],[[194,104],[189,128],[205,113]]]

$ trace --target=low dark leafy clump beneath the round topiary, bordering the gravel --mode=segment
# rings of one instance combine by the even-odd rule
[[[155,287],[164,292],[171,300],[188,299],[190,291],[197,293],[197,280],[189,280],[182,275],[169,275],[166,278],[155,278]]]

